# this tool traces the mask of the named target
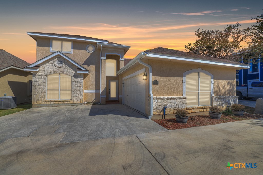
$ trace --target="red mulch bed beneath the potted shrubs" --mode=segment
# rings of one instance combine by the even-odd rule
[[[196,126],[206,126],[206,125],[214,125],[220,123],[227,123],[233,121],[240,121],[240,120],[249,120],[249,119],[259,119],[263,118],[263,115],[254,115],[254,114],[247,114],[244,115],[224,115],[222,114],[221,118],[218,119],[210,119],[209,115],[195,115],[190,116],[188,118],[187,123],[177,123],[175,118],[171,119],[161,119],[161,120],[153,120],[159,125],[163,126],[168,130],[174,129],[182,129],[182,128],[191,128]]]

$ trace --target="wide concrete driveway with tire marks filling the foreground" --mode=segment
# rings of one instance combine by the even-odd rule
[[[59,115],[60,117],[56,121],[51,121],[52,124],[50,123],[50,125],[38,126],[38,130],[28,137],[19,136],[14,138],[19,135],[17,133],[18,130],[21,130],[19,123],[22,122],[18,121],[22,120],[21,115],[18,119],[13,118],[12,115],[5,116],[3,119],[1,117],[2,121],[10,118],[9,123],[13,128],[5,129],[8,132],[4,137],[6,141],[0,144],[0,174],[210,175],[263,173],[262,119],[168,131],[162,128],[159,129],[158,127],[160,126],[152,123],[153,121],[143,118],[134,111],[129,111],[130,109],[123,105],[120,105],[119,109],[112,109],[113,106],[108,108],[107,105],[105,105],[105,108],[103,105],[94,105],[94,109],[91,106],[89,110],[85,106],[67,108],[64,110],[61,110],[62,108],[55,109],[55,107],[46,108],[44,111],[49,110],[54,113],[57,111],[58,113],[55,115]],[[88,115],[90,121],[95,120],[96,122],[94,123],[102,122],[98,126],[104,126],[105,129],[100,130],[97,128],[98,130],[104,133],[113,132],[114,130],[114,137],[103,134],[95,137],[93,134],[92,137],[88,138],[103,138],[70,142],[70,140],[75,141],[74,137],[78,137],[77,133],[73,132],[74,127],[75,129],[77,129],[78,125],[81,127],[91,127],[87,124],[88,121],[81,117],[81,115],[86,115],[81,112],[83,108],[90,114]],[[117,111],[117,114],[114,114],[117,116],[117,119],[114,121],[110,117],[112,114],[102,114],[100,112],[102,109],[105,110],[104,113],[114,113]],[[94,119],[97,116],[93,112],[90,112],[92,110],[98,114],[100,119]],[[122,118],[128,116],[119,115],[118,110],[120,110],[119,113],[126,111],[127,115],[133,115],[129,118],[129,121],[121,121]],[[45,115],[41,115],[43,119],[39,121],[38,125],[45,123],[44,121],[48,121],[48,119],[52,120],[53,115],[50,116],[44,113],[44,111],[42,113],[46,117],[44,117]],[[21,113],[24,115],[27,114],[24,112]],[[68,118],[68,115],[71,118]],[[107,118],[107,116],[109,117]],[[34,123],[37,123],[38,120],[34,119],[37,116],[32,117]],[[74,117],[79,120],[76,121],[77,119],[74,119]],[[104,123],[105,118],[108,124]],[[27,117],[23,119],[26,120]],[[104,120],[102,121],[102,119]],[[15,122],[16,120],[17,122]],[[122,132],[127,133],[123,131],[124,128],[113,129],[112,127],[117,120],[120,120],[125,125],[125,128],[131,131],[131,134],[136,132],[141,132],[141,134],[121,134]],[[131,120],[139,120],[136,125],[143,123],[140,125],[141,128],[130,129],[131,126],[129,127],[128,125],[135,123]],[[2,121],[0,121],[1,124]],[[69,123],[72,123],[72,125]],[[6,124],[8,125],[8,123]],[[18,129],[14,126],[17,126]],[[27,125],[24,124],[24,126]],[[133,126],[135,127],[135,125]],[[4,133],[2,125],[0,127],[0,135],[2,136]],[[28,128],[33,127],[36,127],[33,123],[28,125]],[[92,128],[91,130],[95,129]],[[16,132],[16,134],[12,135],[13,138],[8,139],[8,135],[13,132]],[[69,134],[67,139],[63,140],[68,132],[73,132],[74,134]],[[26,131],[23,131],[23,133],[25,135]],[[89,135],[88,133],[87,135]],[[86,138],[82,132],[80,134],[82,135],[81,138]],[[257,163],[257,168],[232,168],[230,170],[226,167],[227,162],[231,164],[252,163],[253,165]]]

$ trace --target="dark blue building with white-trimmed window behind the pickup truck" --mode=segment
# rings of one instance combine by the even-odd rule
[[[247,64],[250,64],[250,69],[236,71],[236,86],[246,85],[252,81],[263,81],[263,65],[260,66],[260,60],[258,59],[257,63],[249,61]]]

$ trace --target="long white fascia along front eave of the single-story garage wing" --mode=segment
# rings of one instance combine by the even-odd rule
[[[213,65],[222,65],[222,66],[231,66],[231,67],[239,67],[239,68],[250,68],[250,66],[244,66],[242,64],[234,64],[234,63],[226,63],[226,62],[217,62],[217,61],[207,61],[207,60],[200,60],[200,59],[193,59],[193,58],[183,58],[183,57],[176,57],[176,56],[167,56],[161,54],[154,54],[149,53],[146,57],[156,57],[156,58],[164,58],[164,59],[171,59],[171,60],[180,60],[180,61],[189,61],[189,62],[198,62],[198,63],[207,63]]]

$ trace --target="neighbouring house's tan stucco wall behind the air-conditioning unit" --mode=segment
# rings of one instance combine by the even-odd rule
[[[32,73],[10,68],[0,73],[0,97],[7,96],[17,97],[17,104],[32,101],[30,92],[30,83]]]

